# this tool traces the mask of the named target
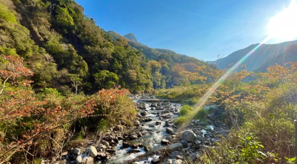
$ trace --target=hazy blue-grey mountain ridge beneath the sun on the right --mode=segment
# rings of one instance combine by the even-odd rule
[[[259,44],[252,44],[247,48],[235,51],[227,57],[209,62],[216,64],[218,68],[230,68]],[[248,71],[266,71],[268,66],[284,65],[287,62],[297,62],[297,40],[278,44],[263,44],[257,48],[242,65],[247,66]]]

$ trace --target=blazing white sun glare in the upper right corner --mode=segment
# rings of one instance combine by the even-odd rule
[[[291,0],[290,5],[269,20],[268,36],[283,40],[297,37],[297,2]]]

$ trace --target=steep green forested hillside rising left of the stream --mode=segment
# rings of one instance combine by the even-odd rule
[[[120,85],[143,93],[195,83],[181,72],[187,65],[206,66],[175,53],[146,51],[123,37],[115,39],[73,0],[1,0],[0,5],[1,56],[22,58],[34,72],[31,80],[37,91],[92,93]]]

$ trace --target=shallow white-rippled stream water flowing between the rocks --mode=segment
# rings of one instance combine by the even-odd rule
[[[145,109],[139,109],[139,112],[146,111],[148,114],[143,116],[143,118],[150,118],[151,121],[141,122],[141,126],[135,132],[141,132],[142,137],[138,137],[137,139],[130,140],[130,145],[133,143],[142,143],[143,146],[149,147],[150,150],[157,149],[161,147],[161,140],[166,136],[170,136],[166,132],[166,121],[172,122],[173,119],[178,117],[179,110],[181,108],[181,104],[179,103],[170,103],[170,102],[146,102],[140,101],[138,99],[134,100],[137,106],[139,104],[145,106]],[[161,110],[151,110],[151,104],[157,104],[158,107],[163,107]],[[163,119],[162,116],[165,116]],[[169,118],[167,118],[169,117]],[[156,122],[159,122],[159,125],[156,125]],[[120,141],[116,145],[117,151],[112,156],[110,160],[108,160],[107,164],[122,164],[125,161],[132,160],[139,155],[143,155],[146,153],[144,147],[138,147],[140,152],[128,154],[128,151],[131,150],[131,147],[122,149],[123,141]],[[150,164],[152,157],[148,157],[146,160],[136,162],[136,164]]]

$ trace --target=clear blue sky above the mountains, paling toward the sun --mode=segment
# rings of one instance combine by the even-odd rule
[[[261,42],[290,0],[76,0],[105,31],[203,61]],[[288,40],[272,39],[268,43]]]

